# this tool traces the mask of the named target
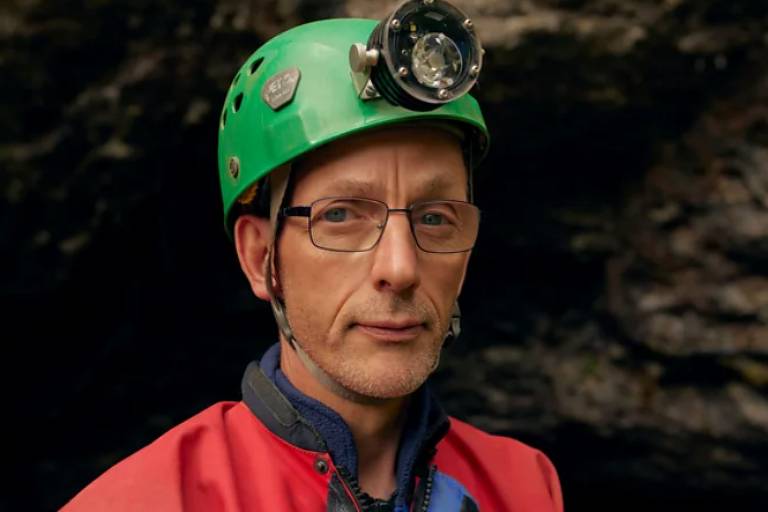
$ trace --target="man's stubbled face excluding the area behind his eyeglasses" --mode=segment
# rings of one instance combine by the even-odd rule
[[[333,143],[295,169],[291,204],[335,196],[390,208],[467,198],[458,140],[439,129],[390,128]],[[408,218],[389,216],[367,252],[315,247],[306,218],[289,217],[278,274],[294,335],[331,378],[357,394],[404,396],[433,371],[469,253],[419,249]]]

